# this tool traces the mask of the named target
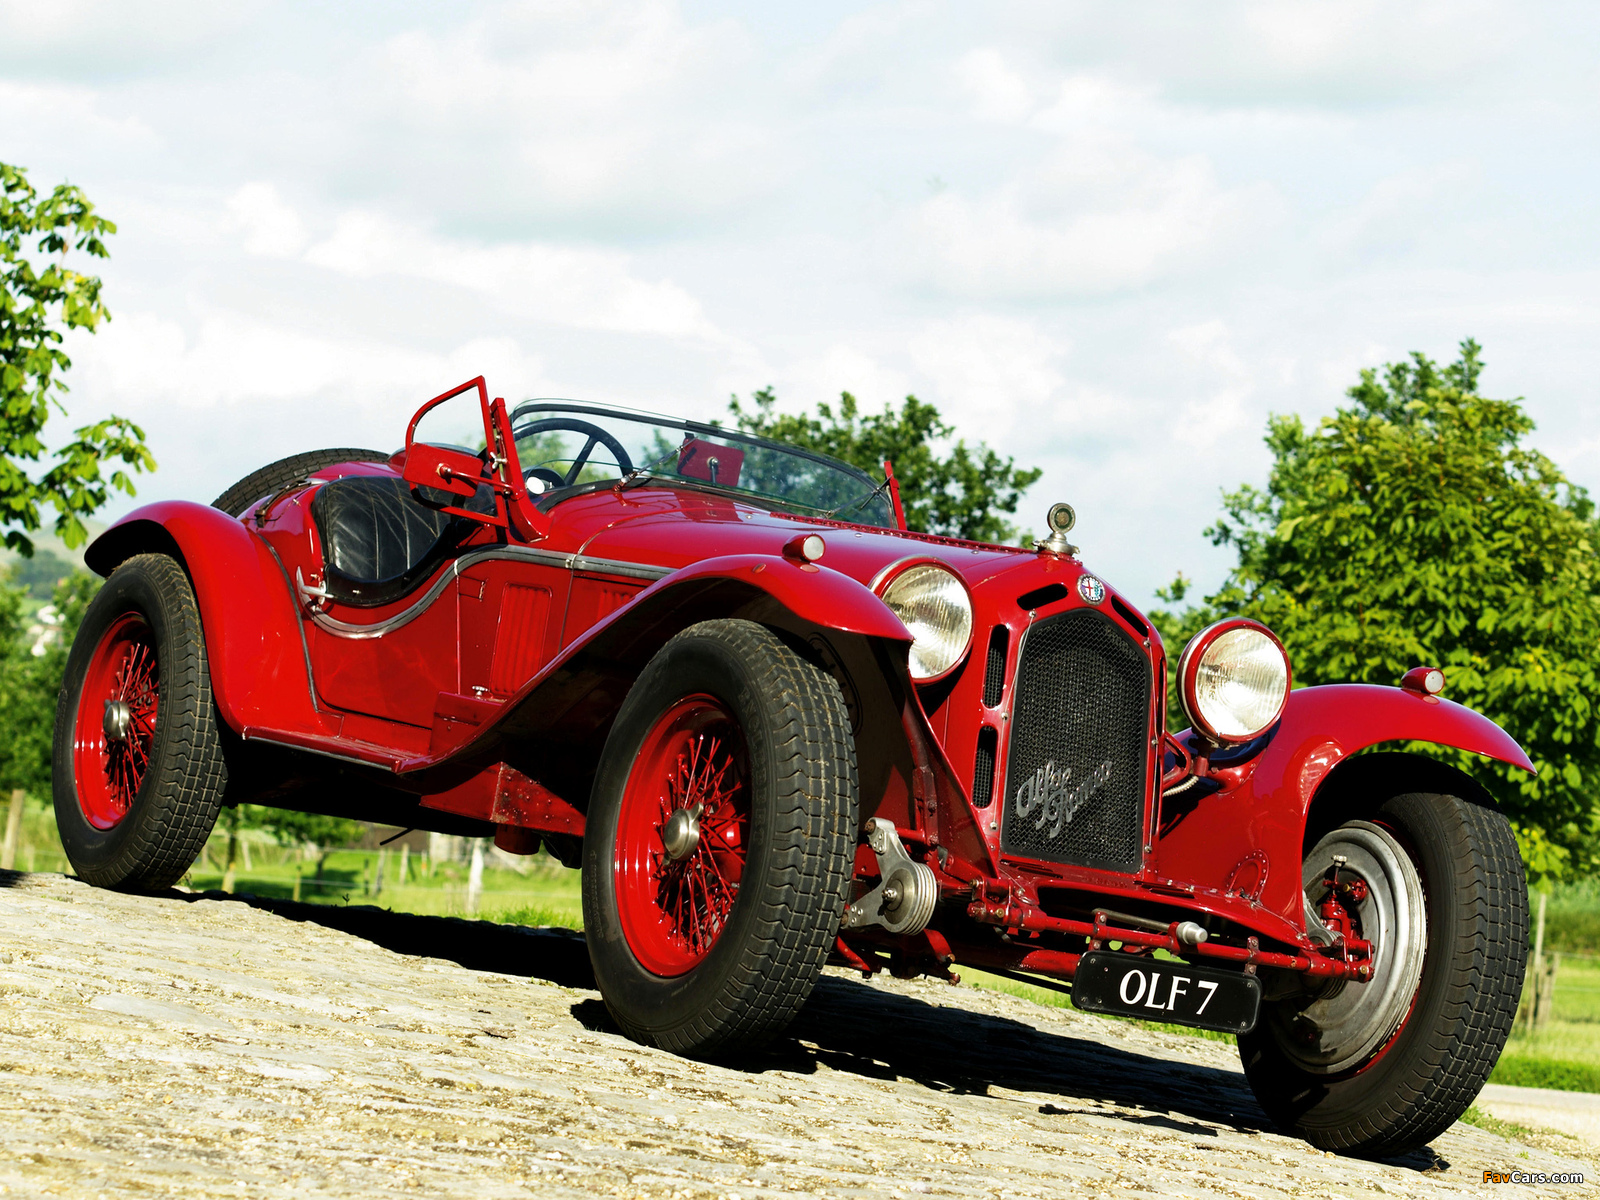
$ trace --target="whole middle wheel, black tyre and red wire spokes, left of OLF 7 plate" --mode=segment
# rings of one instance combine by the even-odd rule
[[[584,837],[584,928],[622,1030],[728,1056],[781,1032],[846,901],[856,754],[838,683],[749,621],[650,661],[606,739]]]

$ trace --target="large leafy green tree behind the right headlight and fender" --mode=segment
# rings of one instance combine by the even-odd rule
[[[1443,667],[1446,696],[1502,725],[1538,778],[1493,765],[1530,867],[1595,866],[1600,526],[1582,488],[1525,445],[1520,400],[1478,395],[1480,347],[1362,371],[1314,430],[1267,421],[1264,490],[1208,530],[1237,565],[1205,605],[1157,614],[1178,638],[1242,613],[1283,638],[1298,683],[1395,683]],[[1179,578],[1163,598],[1182,600]],[[1480,762],[1454,755],[1480,778]]]

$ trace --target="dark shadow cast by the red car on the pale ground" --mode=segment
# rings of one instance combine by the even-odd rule
[[[442,958],[475,971],[547,979],[563,987],[595,986],[582,934],[571,930],[419,917],[371,906],[304,904],[243,893],[189,893],[187,899],[246,902],[288,920],[349,933],[395,954]],[[573,1016],[587,1029],[618,1032],[600,1000],[574,1003]],[[1096,1115],[1202,1138],[1218,1136],[1218,1126],[1245,1134],[1274,1130],[1238,1072],[1139,1054],[838,976],[822,978],[789,1034],[738,1069],[811,1074],[819,1066],[862,1078],[907,1078],[930,1091],[952,1094],[984,1096],[998,1088],[1050,1096],[1038,1106],[1046,1117]],[[1107,1112],[1099,1107],[1106,1102],[1144,1112]],[[1427,1149],[1387,1162],[1418,1171],[1448,1168]]]

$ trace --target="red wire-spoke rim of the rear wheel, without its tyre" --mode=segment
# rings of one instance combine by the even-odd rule
[[[160,666],[150,626],[118,616],[94,646],[72,738],[78,805],[96,829],[128,816],[150,766]]]

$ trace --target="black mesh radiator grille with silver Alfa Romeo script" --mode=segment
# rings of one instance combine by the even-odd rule
[[[1142,861],[1150,664],[1102,613],[1022,637],[1000,848],[1107,870]]]

